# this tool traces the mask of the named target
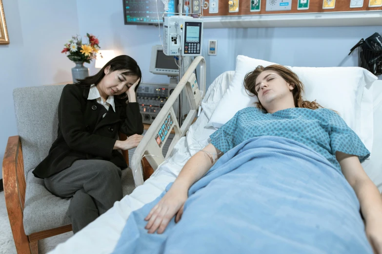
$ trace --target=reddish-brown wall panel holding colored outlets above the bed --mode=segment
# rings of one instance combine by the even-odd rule
[[[209,3],[209,0],[205,0]],[[204,17],[213,16],[240,16],[240,15],[264,15],[264,14],[298,14],[298,13],[323,13],[323,12],[354,12],[354,11],[377,11],[382,7],[368,7],[369,0],[363,0],[362,8],[350,8],[350,0],[336,0],[334,9],[322,9],[323,0],[310,0],[308,10],[297,10],[298,0],[292,0],[290,11],[265,11],[266,0],[261,0],[260,12],[250,11],[251,0],[239,0],[239,12],[228,12],[228,0],[219,0],[219,13],[208,13],[208,8],[203,10]]]

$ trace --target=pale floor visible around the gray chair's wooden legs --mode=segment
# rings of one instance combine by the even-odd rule
[[[73,232],[52,236],[39,241],[39,254],[53,250],[59,243],[64,242]],[[11,225],[9,224],[7,208],[5,206],[4,192],[0,192],[0,254],[16,254]]]

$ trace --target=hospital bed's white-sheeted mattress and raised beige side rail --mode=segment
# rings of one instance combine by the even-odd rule
[[[189,72],[186,72],[184,79],[180,84],[185,84],[198,63],[201,62],[201,80],[204,82],[204,62],[203,59],[194,61]],[[195,123],[192,123],[197,109],[192,109],[189,118],[179,127],[174,124],[176,137],[173,144],[170,145],[165,158],[160,156],[159,150],[147,147],[149,139],[156,136],[160,124],[170,114],[174,114],[171,109],[171,100],[169,98],[162,114],[157,117],[157,125],[152,125],[145,134],[140,146],[137,147],[132,161],[134,180],[137,188],[132,194],[125,196],[121,201],[116,202],[112,209],[103,214],[100,218],[90,223],[75,236],[69,238],[66,242],[59,244],[51,254],[66,253],[111,253],[121,236],[122,229],[130,213],[141,208],[144,204],[155,200],[165,189],[168,183],[174,181],[181,171],[186,161],[195,154],[203,145],[208,143],[209,135],[215,129],[205,127],[215,111],[219,101],[227,91],[235,71],[222,73],[210,85],[205,93],[201,103],[201,113]],[[201,85],[201,87],[204,84]],[[382,132],[379,127],[382,126],[382,80],[374,81],[373,85],[373,115],[374,115],[374,137],[371,159],[362,163],[368,176],[382,191]],[[181,86],[173,94],[179,94]],[[168,106],[168,107],[166,107]],[[156,120],[157,120],[156,119]],[[186,134],[184,136],[184,134]],[[198,148],[200,147],[200,148]],[[147,156],[145,156],[147,155]],[[154,155],[154,156],[152,156]],[[154,174],[143,183],[142,172],[140,168],[141,157],[145,156],[154,169]],[[151,157],[151,158],[150,158]]]

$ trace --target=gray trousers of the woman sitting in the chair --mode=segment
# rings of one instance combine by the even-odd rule
[[[46,188],[71,198],[69,217],[76,234],[122,199],[121,168],[102,160],[79,160],[44,179]]]

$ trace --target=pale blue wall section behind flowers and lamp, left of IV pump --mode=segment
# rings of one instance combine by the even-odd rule
[[[101,50],[115,50],[116,54],[133,57],[141,67],[144,82],[168,83],[167,76],[149,72],[151,47],[161,44],[158,27],[124,25],[120,0],[78,0],[77,9],[81,34],[98,36]],[[90,64],[91,73],[97,72],[93,67],[94,63]]]

